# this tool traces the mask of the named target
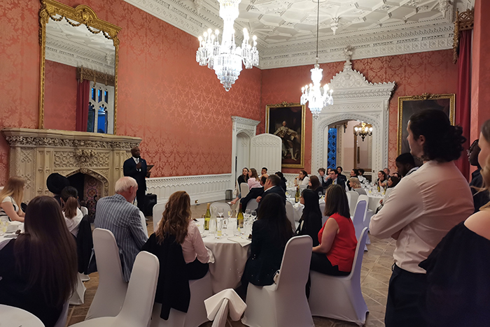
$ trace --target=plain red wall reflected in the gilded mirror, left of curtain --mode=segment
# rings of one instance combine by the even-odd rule
[[[76,130],[76,67],[45,61],[44,126]]]

